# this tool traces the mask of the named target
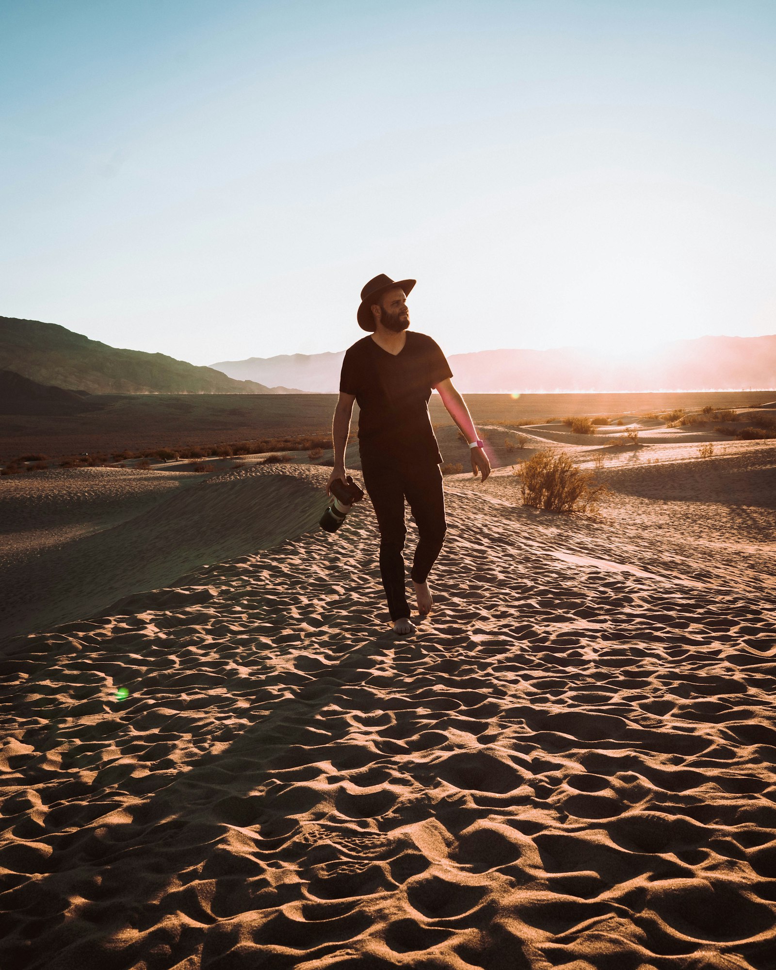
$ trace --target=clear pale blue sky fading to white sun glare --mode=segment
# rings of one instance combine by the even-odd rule
[[[0,314],[197,364],[776,333],[773,0],[2,0]]]

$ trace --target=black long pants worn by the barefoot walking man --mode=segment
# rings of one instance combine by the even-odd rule
[[[424,583],[444,542],[444,493],[439,466],[426,460],[374,463],[362,459],[364,487],[380,530],[380,575],[392,620],[409,616],[404,588],[404,498],[420,533],[410,577]]]

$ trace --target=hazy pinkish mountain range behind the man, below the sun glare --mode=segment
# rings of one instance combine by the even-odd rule
[[[440,343],[444,350],[444,341]],[[616,343],[612,348],[617,350]],[[337,392],[344,350],[250,357],[213,364],[242,380]],[[693,391],[776,388],[776,336],[701,337],[663,343],[633,360],[590,347],[480,350],[451,354],[453,382],[469,394],[555,391]]]

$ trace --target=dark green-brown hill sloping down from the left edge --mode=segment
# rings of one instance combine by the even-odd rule
[[[0,369],[92,394],[293,394],[165,354],[120,350],[40,320],[0,316]]]

